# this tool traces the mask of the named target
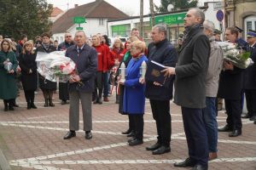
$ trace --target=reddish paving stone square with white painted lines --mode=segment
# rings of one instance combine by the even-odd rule
[[[171,102],[172,151],[153,156],[145,147],[154,144],[155,122],[146,101],[144,116],[144,143],[129,146],[121,132],[128,127],[128,117],[118,113],[114,97],[103,105],[93,105],[93,138],[84,139],[84,132],[77,137],[63,140],[68,130],[68,105],[61,105],[55,94],[55,107],[44,108],[41,92],[36,94],[37,110],[26,110],[24,94],[17,99],[19,108],[3,111],[0,104],[0,149],[12,169],[188,169],[173,167],[175,161],[187,157],[187,144],[183,133],[180,108]],[[82,114],[80,110],[80,120]],[[218,126],[225,124],[224,111],[218,113]],[[228,137],[218,133],[218,159],[209,162],[209,169],[255,170],[256,125],[243,119],[242,135]],[[80,128],[83,122],[80,122]]]

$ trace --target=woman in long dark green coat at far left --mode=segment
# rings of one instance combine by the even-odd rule
[[[0,99],[3,99],[4,111],[14,111],[17,86],[15,81],[15,70],[18,66],[15,53],[12,51],[11,43],[4,39],[1,42],[0,51]]]

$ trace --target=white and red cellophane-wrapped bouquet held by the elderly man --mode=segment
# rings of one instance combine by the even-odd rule
[[[38,73],[51,82],[68,82],[77,73],[76,64],[65,56],[65,51],[38,52],[36,61]]]

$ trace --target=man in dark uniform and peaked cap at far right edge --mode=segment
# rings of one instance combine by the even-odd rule
[[[247,32],[248,50],[254,64],[247,67],[244,72],[244,89],[247,99],[247,117],[256,121],[256,31]]]

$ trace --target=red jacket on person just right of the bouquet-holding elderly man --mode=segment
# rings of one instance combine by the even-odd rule
[[[106,48],[103,45],[92,46],[96,49],[98,54],[98,68],[97,71],[108,71],[108,54]]]

